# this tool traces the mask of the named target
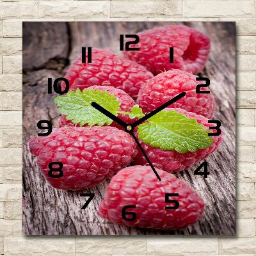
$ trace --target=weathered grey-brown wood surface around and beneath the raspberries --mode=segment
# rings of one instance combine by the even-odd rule
[[[235,25],[234,22],[185,22],[211,37],[211,56],[202,76],[211,79],[216,100],[214,119],[221,120],[223,142],[207,159],[210,175],[194,175],[193,170],[176,173],[204,198],[204,216],[193,227],[174,232],[120,227],[97,215],[97,206],[108,182],[79,192],[49,186],[28,152],[29,138],[36,134],[38,120],[58,126],[58,111],[47,94],[47,77],[65,74],[68,64],[82,46],[109,47],[118,52],[119,35],[173,22],[30,22],[23,36],[23,228],[24,234],[235,234],[236,225],[236,141],[235,141]],[[118,52],[120,54],[120,52]],[[86,210],[79,193],[95,193]]]

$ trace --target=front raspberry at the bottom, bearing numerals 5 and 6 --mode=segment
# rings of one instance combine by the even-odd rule
[[[204,201],[174,175],[158,170],[161,181],[149,166],[130,166],[118,172],[108,185],[107,194],[99,205],[99,215],[118,225],[129,227],[179,229],[193,225],[202,216]],[[179,202],[178,209],[165,209],[166,193],[179,193],[168,199]],[[122,218],[126,205],[136,205],[127,212],[136,213],[136,220]],[[127,214],[127,218],[131,218]]]

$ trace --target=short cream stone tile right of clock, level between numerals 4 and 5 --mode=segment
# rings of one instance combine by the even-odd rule
[[[253,182],[236,183],[236,200],[256,200]]]

